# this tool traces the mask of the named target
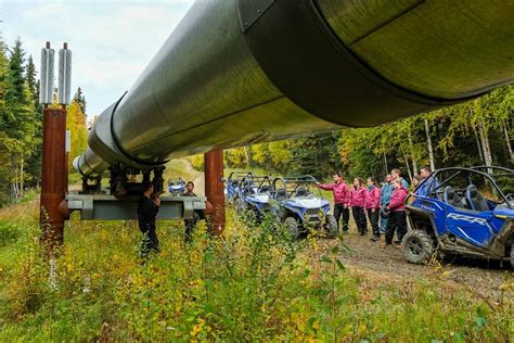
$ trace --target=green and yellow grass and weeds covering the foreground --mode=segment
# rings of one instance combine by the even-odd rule
[[[163,251],[145,266],[134,223],[74,217],[52,288],[37,205],[2,209],[0,223],[20,234],[0,246],[0,341],[513,338],[512,292],[490,305],[437,279],[376,280],[345,268],[344,241],[294,242],[270,223],[246,228],[228,214],[224,240],[201,226],[192,245],[181,223],[158,223]]]

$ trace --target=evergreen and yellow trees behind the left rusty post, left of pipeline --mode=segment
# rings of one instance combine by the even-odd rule
[[[53,106],[57,106],[56,89]],[[12,47],[0,38],[0,206],[40,185],[42,120],[33,56],[27,58],[20,38]],[[72,134],[70,156],[75,156],[86,147],[87,136],[86,98],[80,88],[68,106],[66,127]]]

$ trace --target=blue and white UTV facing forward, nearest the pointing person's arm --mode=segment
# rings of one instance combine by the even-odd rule
[[[292,237],[299,238],[310,230],[329,238],[337,236],[337,221],[329,213],[330,202],[321,195],[312,176],[275,178],[272,188],[277,202],[272,211]]]

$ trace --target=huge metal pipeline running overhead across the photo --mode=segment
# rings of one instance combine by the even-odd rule
[[[499,0],[197,1],[74,167],[150,170],[466,101],[514,80],[513,17]]]

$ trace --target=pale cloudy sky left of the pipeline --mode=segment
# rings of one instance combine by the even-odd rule
[[[130,88],[193,2],[0,0],[1,34],[9,47],[20,37],[38,69],[47,41],[55,53],[67,42],[72,96],[82,89],[91,118]]]

